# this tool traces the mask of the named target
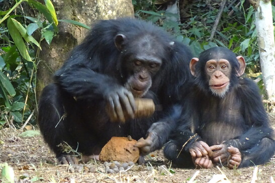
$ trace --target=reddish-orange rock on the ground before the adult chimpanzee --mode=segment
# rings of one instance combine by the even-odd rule
[[[134,147],[136,142],[127,137],[112,137],[102,148],[99,158],[101,161],[137,162],[139,149]]]

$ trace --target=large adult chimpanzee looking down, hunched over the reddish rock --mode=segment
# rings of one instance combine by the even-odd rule
[[[178,87],[192,76],[191,58],[185,45],[150,23],[98,22],[43,90],[38,122],[45,141],[61,163],[77,160],[60,143],[85,156],[98,155],[113,136],[140,139],[136,146],[143,154],[160,148],[180,114],[172,106]],[[134,118],[134,98],[153,99],[161,114]]]

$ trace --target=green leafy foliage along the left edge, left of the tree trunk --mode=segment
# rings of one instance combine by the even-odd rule
[[[38,18],[21,12],[22,3],[36,8]],[[45,4],[33,0],[10,1],[8,7],[4,7],[8,10],[0,11],[0,38],[3,38],[0,43],[0,125],[14,120],[14,124],[20,126],[36,108],[33,75],[41,50],[40,42],[45,39],[50,44],[58,31],[54,7],[50,1],[45,0]],[[13,15],[15,9],[22,16]],[[39,41],[32,36],[34,33]]]

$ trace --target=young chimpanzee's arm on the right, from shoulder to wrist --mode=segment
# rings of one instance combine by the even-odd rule
[[[251,128],[237,139],[229,140],[226,144],[245,150],[253,147],[263,138],[271,139],[272,129],[268,125],[268,117],[262,106],[258,86],[246,78],[240,78],[239,81],[240,87],[236,93],[242,100],[244,125]]]

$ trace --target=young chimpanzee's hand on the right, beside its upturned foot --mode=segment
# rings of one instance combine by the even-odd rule
[[[227,151],[226,144],[212,145],[210,149],[213,151],[212,159],[214,162],[226,162],[230,153]]]

